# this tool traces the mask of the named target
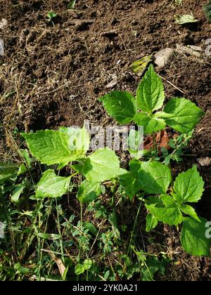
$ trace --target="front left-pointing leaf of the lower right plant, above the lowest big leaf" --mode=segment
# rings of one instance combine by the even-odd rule
[[[163,195],[160,197],[163,206],[158,206],[156,204],[146,205],[146,208],[155,215],[155,218],[162,223],[169,225],[179,225],[182,223],[182,214],[179,210],[178,205],[174,202],[174,199],[169,195]]]

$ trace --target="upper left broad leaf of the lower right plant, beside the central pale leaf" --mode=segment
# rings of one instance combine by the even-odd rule
[[[170,186],[169,167],[158,162],[141,162],[139,180],[141,187],[148,194],[165,194]]]

